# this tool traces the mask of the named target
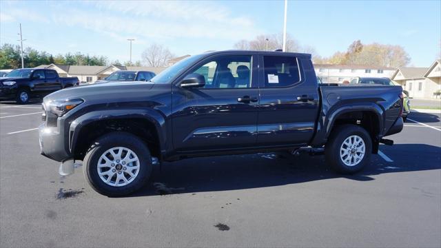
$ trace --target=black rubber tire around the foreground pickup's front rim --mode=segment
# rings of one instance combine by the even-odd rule
[[[101,155],[112,147],[125,147],[131,149],[139,158],[138,175],[131,183],[121,187],[108,185],[101,180],[98,173],[97,167]],[[147,182],[150,174],[152,174],[152,157],[150,156],[147,145],[145,145],[145,143],[138,137],[125,132],[112,132],[110,134],[105,134],[94,141],[93,145],[85,155],[83,172],[89,185],[99,194],[105,196],[124,196],[136,192],[136,190],[143,187]]]

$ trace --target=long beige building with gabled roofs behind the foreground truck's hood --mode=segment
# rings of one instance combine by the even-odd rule
[[[58,72],[60,76],[77,76],[82,83],[104,79],[119,70],[149,71],[158,74],[165,68],[125,66],[125,65],[39,65],[37,68],[48,68]]]

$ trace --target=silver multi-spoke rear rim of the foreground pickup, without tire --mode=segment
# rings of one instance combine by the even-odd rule
[[[347,166],[356,166],[365,157],[365,141],[358,135],[351,135],[340,147],[340,158]]]

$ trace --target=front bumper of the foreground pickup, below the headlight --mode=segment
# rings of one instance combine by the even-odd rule
[[[72,158],[72,154],[65,149],[65,134],[63,127],[46,127],[45,124],[39,126],[40,153],[54,161],[67,161]]]

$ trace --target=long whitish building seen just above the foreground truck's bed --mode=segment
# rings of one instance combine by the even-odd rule
[[[314,69],[323,83],[343,83],[356,76],[389,78],[396,71],[396,68],[376,65],[314,64]]]

